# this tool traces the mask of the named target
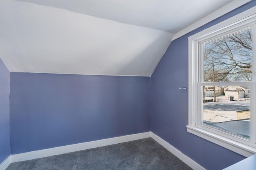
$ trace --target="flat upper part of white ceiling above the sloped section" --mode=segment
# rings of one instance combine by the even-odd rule
[[[176,33],[232,0],[19,0]],[[195,12],[196,11],[196,12]]]

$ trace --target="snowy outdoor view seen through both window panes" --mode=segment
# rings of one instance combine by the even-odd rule
[[[250,84],[239,82],[252,82],[252,28],[201,47],[202,125],[250,139]]]

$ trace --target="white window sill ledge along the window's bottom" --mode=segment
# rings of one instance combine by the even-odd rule
[[[210,133],[198,127],[191,127],[189,125],[187,125],[186,127],[189,133],[192,133],[198,137],[201,137],[212,143],[220,145],[226,149],[232,150],[233,152],[236,152],[243,156],[249,157],[249,156],[252,156],[253,154],[256,154],[256,148],[254,147],[244,145],[242,143],[233,141],[231,139],[222,137],[220,135],[216,135],[214,133]]]

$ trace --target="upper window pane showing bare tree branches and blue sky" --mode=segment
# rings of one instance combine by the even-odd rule
[[[204,82],[252,81],[252,29],[203,44]]]

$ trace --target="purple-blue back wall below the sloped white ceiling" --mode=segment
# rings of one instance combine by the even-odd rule
[[[150,78],[11,73],[11,154],[150,131]]]

